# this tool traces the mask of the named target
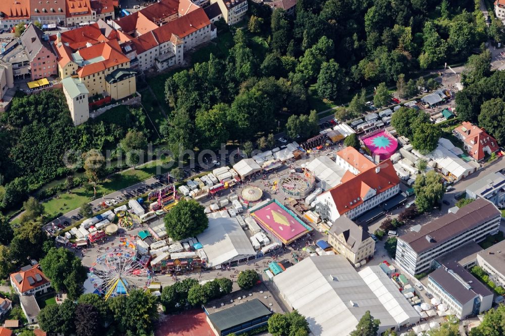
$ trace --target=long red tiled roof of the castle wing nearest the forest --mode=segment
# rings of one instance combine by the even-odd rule
[[[164,43],[172,38],[172,34],[177,35],[179,38],[184,38],[198,29],[204,28],[210,24],[211,22],[209,21],[207,14],[205,14],[205,11],[198,8],[183,17],[170,21],[169,23],[155,29],[153,34],[155,34],[159,43]]]

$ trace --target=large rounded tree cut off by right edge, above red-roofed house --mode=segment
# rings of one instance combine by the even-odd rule
[[[491,134],[499,144],[505,143],[505,101],[493,98],[484,101],[480,108],[479,126]]]

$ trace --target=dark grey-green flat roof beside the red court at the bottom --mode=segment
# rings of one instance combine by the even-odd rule
[[[208,315],[214,326],[222,331],[262,316],[272,314],[260,300],[254,299]]]

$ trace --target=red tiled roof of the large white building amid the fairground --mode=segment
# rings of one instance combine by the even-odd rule
[[[330,193],[340,214],[362,204],[363,198],[370,189],[376,189],[376,195],[378,195],[399,183],[390,159],[373,165],[356,176],[347,173],[344,174],[341,184],[326,191]]]

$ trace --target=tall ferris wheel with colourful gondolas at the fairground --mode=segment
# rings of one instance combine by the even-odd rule
[[[150,271],[135,257],[135,251],[118,247],[98,256],[89,268],[93,287],[105,300],[128,295],[133,289],[146,290],[150,284]]]

